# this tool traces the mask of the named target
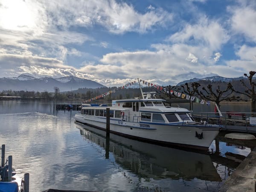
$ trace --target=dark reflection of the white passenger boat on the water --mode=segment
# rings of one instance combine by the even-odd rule
[[[208,154],[183,151],[131,140],[87,125],[78,125],[83,137],[105,148],[106,158],[113,153],[116,163],[146,178],[172,178],[221,181]]]

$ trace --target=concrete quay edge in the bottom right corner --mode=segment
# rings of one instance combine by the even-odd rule
[[[230,177],[227,178],[220,192],[255,192],[256,184],[256,148],[243,160]]]

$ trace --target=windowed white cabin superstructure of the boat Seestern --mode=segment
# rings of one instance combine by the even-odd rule
[[[194,122],[189,111],[184,108],[165,106],[163,99],[122,99],[112,102],[110,118],[128,122],[147,122],[151,124],[177,124]],[[106,107],[91,105],[83,107],[81,114],[106,117]]]

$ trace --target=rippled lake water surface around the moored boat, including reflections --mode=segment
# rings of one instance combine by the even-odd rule
[[[218,191],[254,143],[220,134],[209,152],[183,151],[111,134],[74,122],[76,111],[40,101],[0,101],[0,145],[12,155],[20,185],[99,192]]]

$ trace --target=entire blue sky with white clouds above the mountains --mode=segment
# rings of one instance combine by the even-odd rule
[[[0,0],[0,78],[174,85],[250,70],[255,0]]]

